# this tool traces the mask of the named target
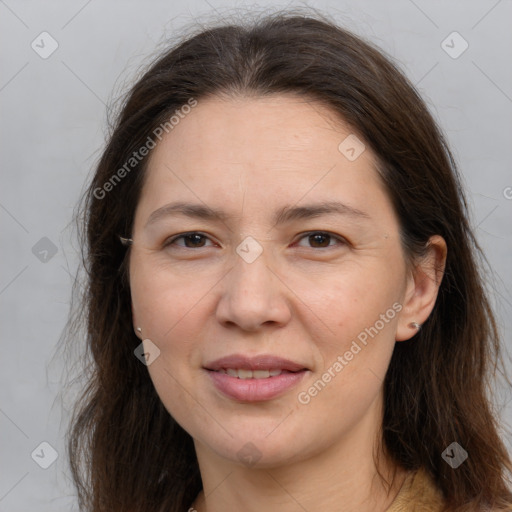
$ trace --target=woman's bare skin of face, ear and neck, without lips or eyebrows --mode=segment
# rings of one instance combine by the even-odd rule
[[[193,437],[203,479],[194,507],[221,510],[385,510],[393,464],[376,441],[382,384],[396,341],[416,333],[437,296],[441,237],[408,267],[399,225],[371,150],[349,161],[351,133],[303,97],[209,98],[153,150],[130,254],[134,327],[160,355],[148,366],[162,402]],[[152,212],[173,201],[221,208],[224,221]],[[325,215],[275,225],[284,206],[340,201],[367,218]],[[173,235],[199,231],[195,241]],[[311,232],[332,236],[310,237]],[[263,252],[236,252],[248,236]],[[336,237],[341,237],[338,240]],[[386,316],[386,311],[393,309]],[[397,308],[396,305],[399,305]],[[400,311],[396,311],[400,309]],[[387,322],[310,401],[298,400],[365,329]],[[380,324],[378,324],[380,325]],[[146,342],[147,343],[147,342]],[[308,368],[298,386],[265,402],[227,398],[203,369],[231,354],[273,354]],[[339,367],[338,367],[339,368]],[[246,443],[257,460],[238,456]],[[247,449],[247,448],[246,448]]]

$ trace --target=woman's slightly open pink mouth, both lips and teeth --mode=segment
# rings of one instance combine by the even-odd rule
[[[204,366],[214,387],[224,396],[243,402],[271,400],[296,386],[309,371],[304,365],[261,355],[232,355]]]

